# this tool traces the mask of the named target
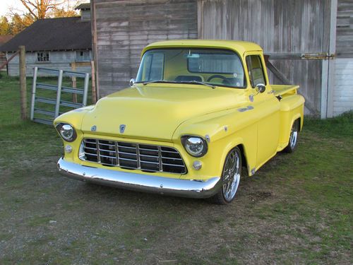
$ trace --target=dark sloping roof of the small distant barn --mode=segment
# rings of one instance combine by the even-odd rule
[[[15,52],[20,45],[28,52],[92,49],[90,21],[80,17],[37,20],[1,45],[0,52]]]

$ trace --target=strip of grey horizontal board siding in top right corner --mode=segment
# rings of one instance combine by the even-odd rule
[[[353,58],[353,0],[337,3],[336,55]]]

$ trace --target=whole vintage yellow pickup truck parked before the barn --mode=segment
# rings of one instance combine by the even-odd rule
[[[59,172],[228,204],[241,176],[294,151],[304,112],[298,88],[270,85],[251,42],[155,42],[129,88],[54,120],[64,141]]]

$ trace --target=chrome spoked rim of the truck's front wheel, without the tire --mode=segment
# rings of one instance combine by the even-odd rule
[[[225,201],[230,202],[234,199],[237,192],[241,174],[241,158],[238,148],[234,148],[225,161],[225,168],[222,174],[222,194]]]

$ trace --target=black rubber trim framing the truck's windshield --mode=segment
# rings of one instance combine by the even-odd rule
[[[145,54],[147,52],[150,52],[150,51],[155,51],[155,50],[161,50],[161,49],[206,49],[206,50],[217,50],[217,51],[225,51],[225,52],[232,52],[234,54],[237,55],[237,57],[239,57],[239,61],[241,63],[241,68],[243,69],[244,71],[244,86],[227,86],[225,84],[211,84],[209,83],[210,85],[212,86],[220,86],[220,87],[225,87],[225,88],[239,88],[239,89],[246,89],[248,88],[248,78],[247,78],[247,75],[246,75],[246,71],[245,71],[245,67],[244,67],[244,62],[243,62],[243,59],[242,57],[240,56],[239,52],[237,52],[236,50],[234,49],[227,49],[227,48],[213,48],[213,47],[190,47],[190,46],[179,46],[179,47],[154,47],[154,48],[151,48],[151,49],[147,49],[145,50],[145,52],[142,54],[141,58],[143,58],[145,56]],[[142,63],[142,61],[141,61]],[[188,62],[189,64],[189,62]],[[189,66],[187,66],[189,68]],[[164,69],[164,65],[163,65],[163,69]],[[189,71],[189,69],[188,69]],[[191,72],[193,73],[193,72]],[[136,83],[146,83],[146,81],[139,81],[139,82],[136,82]],[[164,81],[163,83],[183,83],[183,82],[177,82],[177,81]],[[206,82],[204,82],[206,83]],[[191,85],[193,85],[193,83],[190,83]],[[197,85],[197,84],[195,84]]]

